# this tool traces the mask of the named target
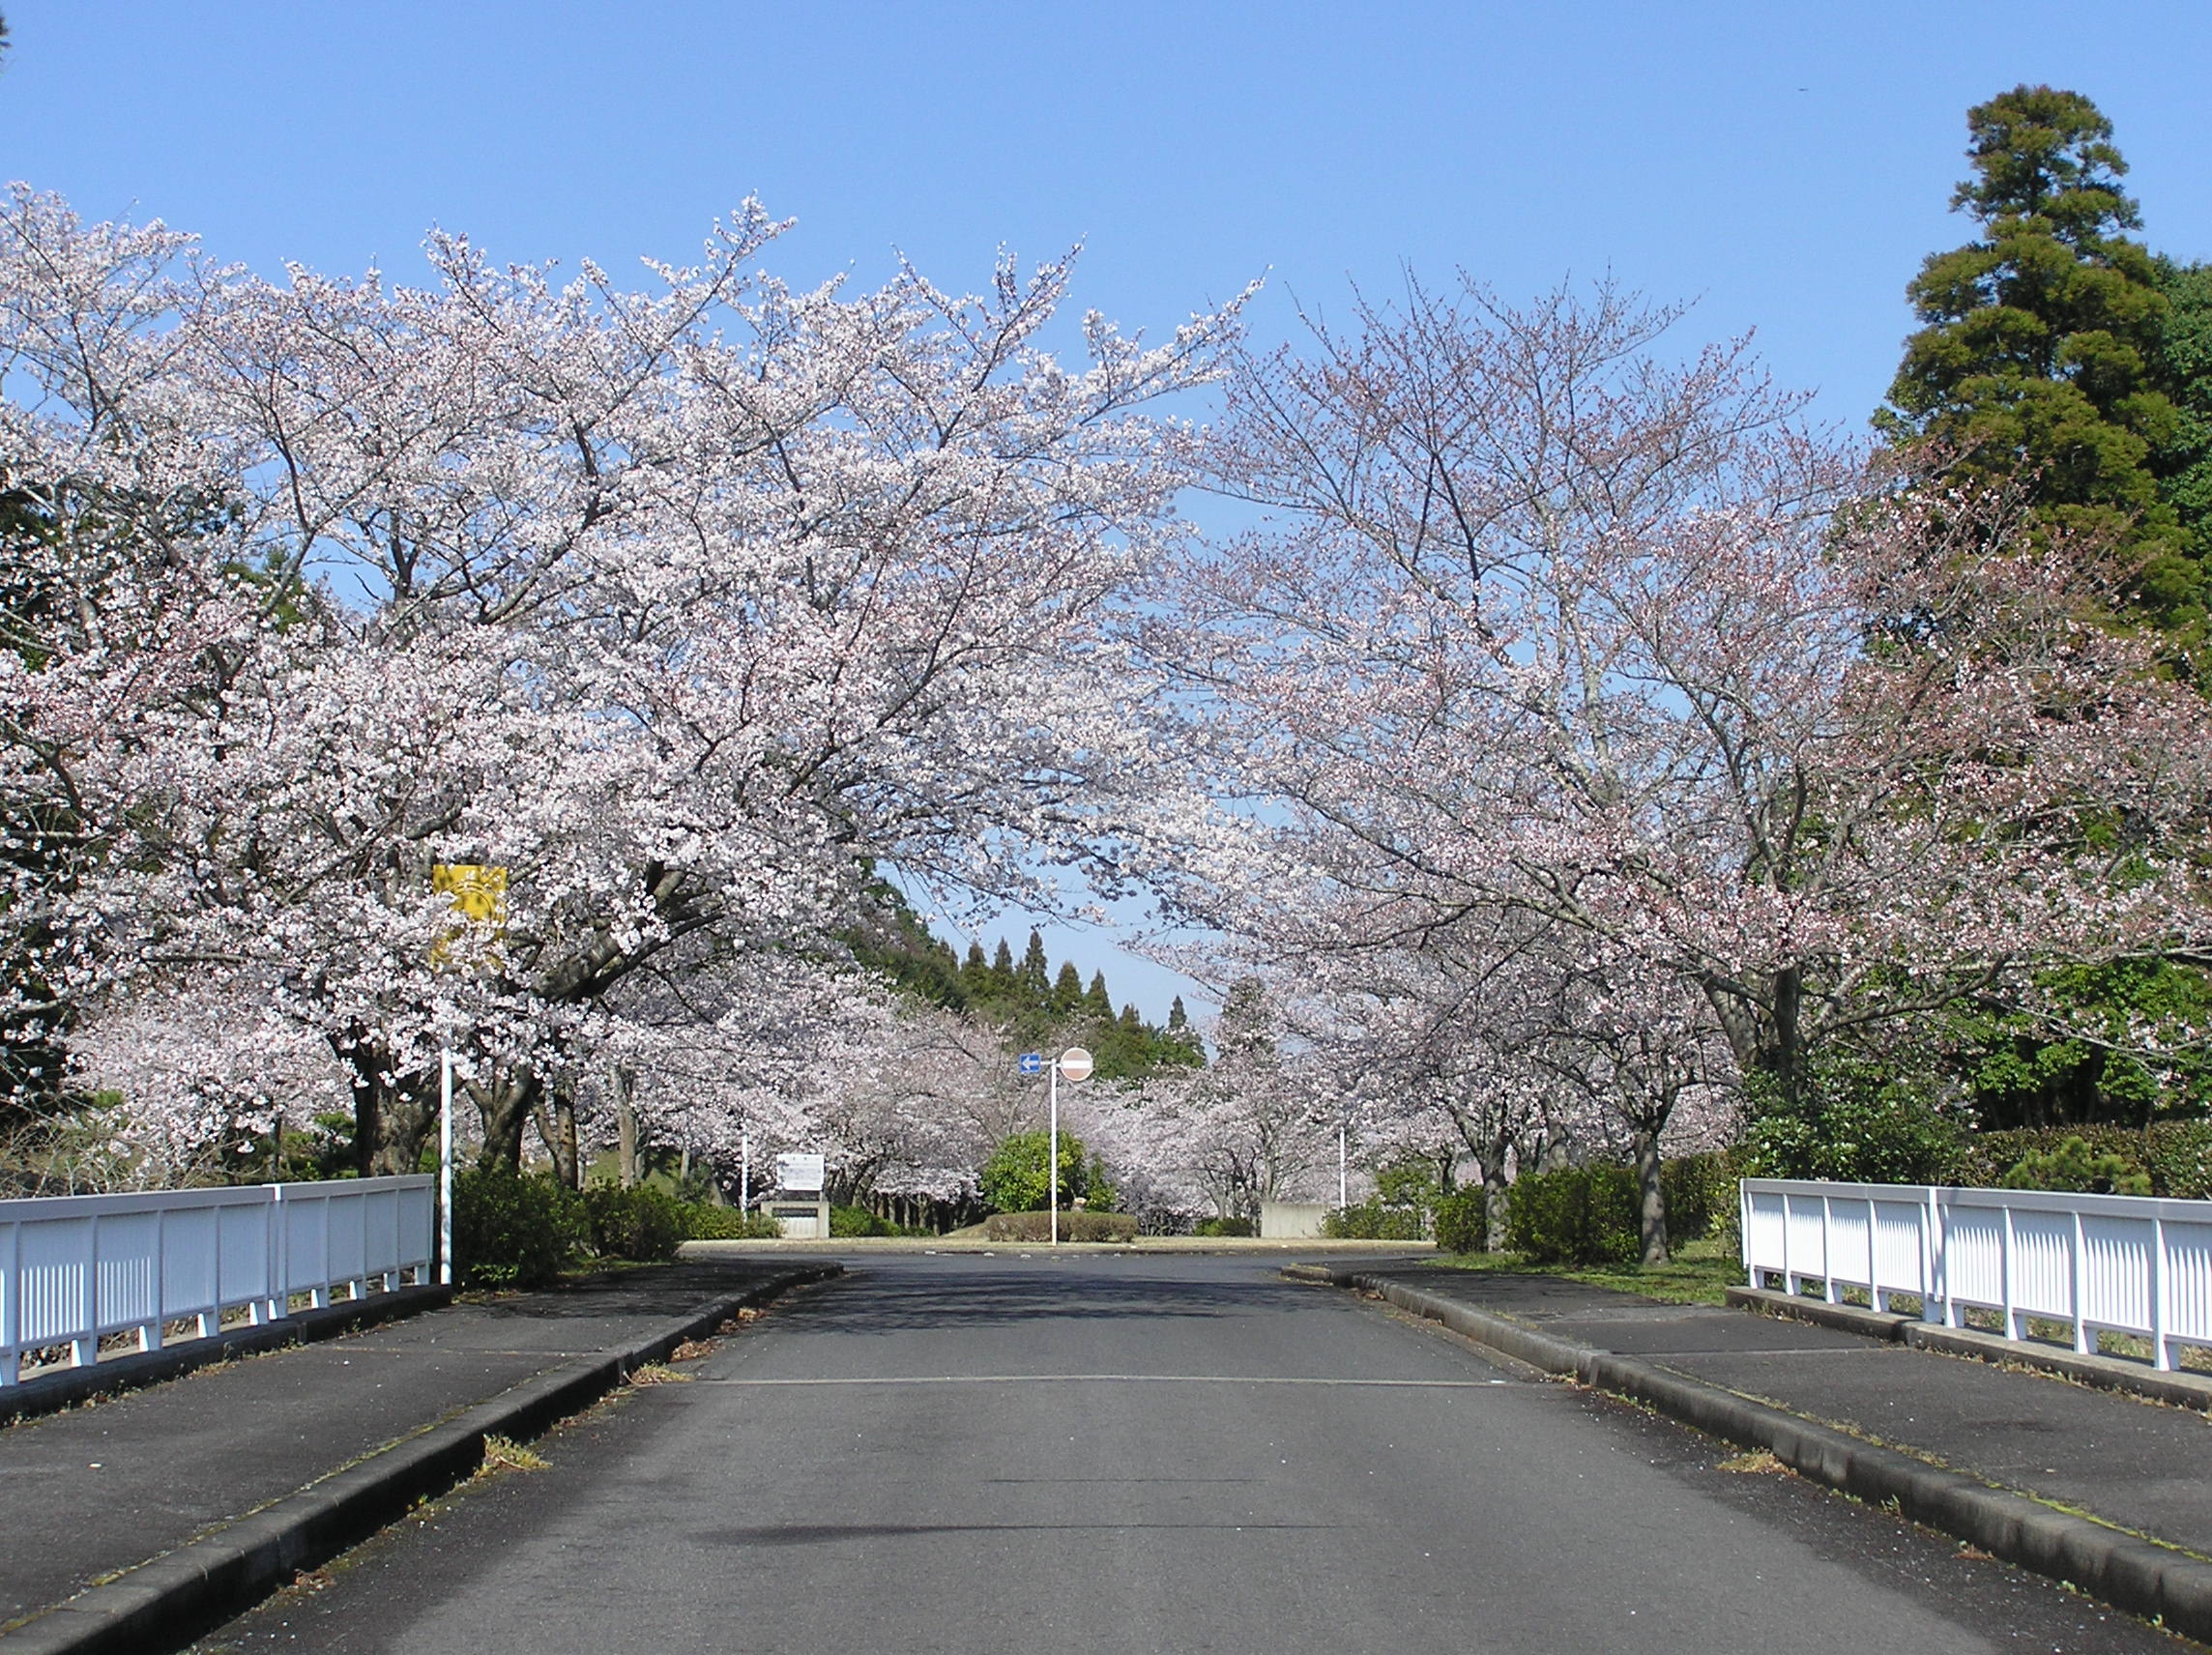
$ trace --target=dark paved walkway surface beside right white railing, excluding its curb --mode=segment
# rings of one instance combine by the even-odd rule
[[[2212,1418],[2046,1374],[1747,1310],[1661,1305],[1559,1277],[1365,1274],[1838,1425],[2212,1558]]]

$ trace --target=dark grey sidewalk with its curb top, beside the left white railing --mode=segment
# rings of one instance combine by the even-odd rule
[[[354,1485],[372,1482],[358,1474],[407,1458],[396,1449],[436,1436],[431,1427],[473,1412],[500,1429],[489,1407],[500,1398],[588,1401],[595,1378],[619,1376],[675,1330],[834,1272],[799,1259],[657,1266],[429,1310],[9,1425],[0,1651],[77,1646],[60,1622],[86,1615],[31,1617],[188,1542],[206,1547],[210,1531],[219,1538],[345,1467]],[[540,1405],[535,1418],[549,1423],[542,1416]],[[117,1589],[80,1604],[102,1591]]]

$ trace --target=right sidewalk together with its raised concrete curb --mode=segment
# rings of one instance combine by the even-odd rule
[[[1905,1516],[2121,1609],[2212,1633],[2212,1420],[2201,1412],[1559,1277],[1411,1261],[1298,1274],[1380,1290],[1537,1367],[1774,1447],[1860,1498],[1893,1498]]]

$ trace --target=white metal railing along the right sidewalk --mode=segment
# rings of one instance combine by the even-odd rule
[[[1796,1184],[1747,1177],[1743,1268],[1754,1288],[1820,1283],[1829,1303],[1865,1288],[1920,1301],[1922,1321],[1962,1325],[1995,1310],[2006,1339],[2026,1319],[2073,1325],[2079,1352],[2104,1330],[2150,1341],[2168,1370],[2177,1345],[2212,1345],[2212,1201],[1918,1184]]]

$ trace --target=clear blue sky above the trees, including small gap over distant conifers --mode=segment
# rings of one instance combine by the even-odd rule
[[[794,281],[907,252],[975,285],[1082,239],[1077,303],[1166,330],[1455,268],[1610,272],[1759,332],[1858,425],[1909,330],[1964,111],[2017,82],[2112,117],[2146,239],[2212,259],[2212,4],[564,4],[0,0],[0,173],[274,272],[684,259],[754,192]],[[1009,918],[1020,931],[1026,920]],[[1164,1016],[1175,982],[1051,934]]]

